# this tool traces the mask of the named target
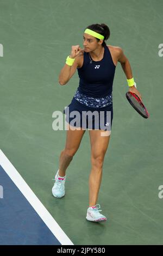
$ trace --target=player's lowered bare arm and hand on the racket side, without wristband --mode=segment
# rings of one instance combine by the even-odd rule
[[[116,53],[117,53],[118,62],[121,63],[122,69],[123,69],[124,74],[126,75],[127,79],[133,78],[129,60],[124,55],[122,48],[116,47]],[[142,96],[141,96],[140,92],[135,88],[134,85],[129,87],[129,92],[135,93],[138,97],[140,97],[140,100],[142,101]]]

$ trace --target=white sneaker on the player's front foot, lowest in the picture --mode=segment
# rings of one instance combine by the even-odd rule
[[[87,209],[86,220],[87,221],[95,221],[95,222],[106,221],[107,218],[104,215],[99,213],[99,211],[102,211],[102,210],[98,210],[99,208],[100,208],[99,204],[96,204],[93,207],[89,207]]]

